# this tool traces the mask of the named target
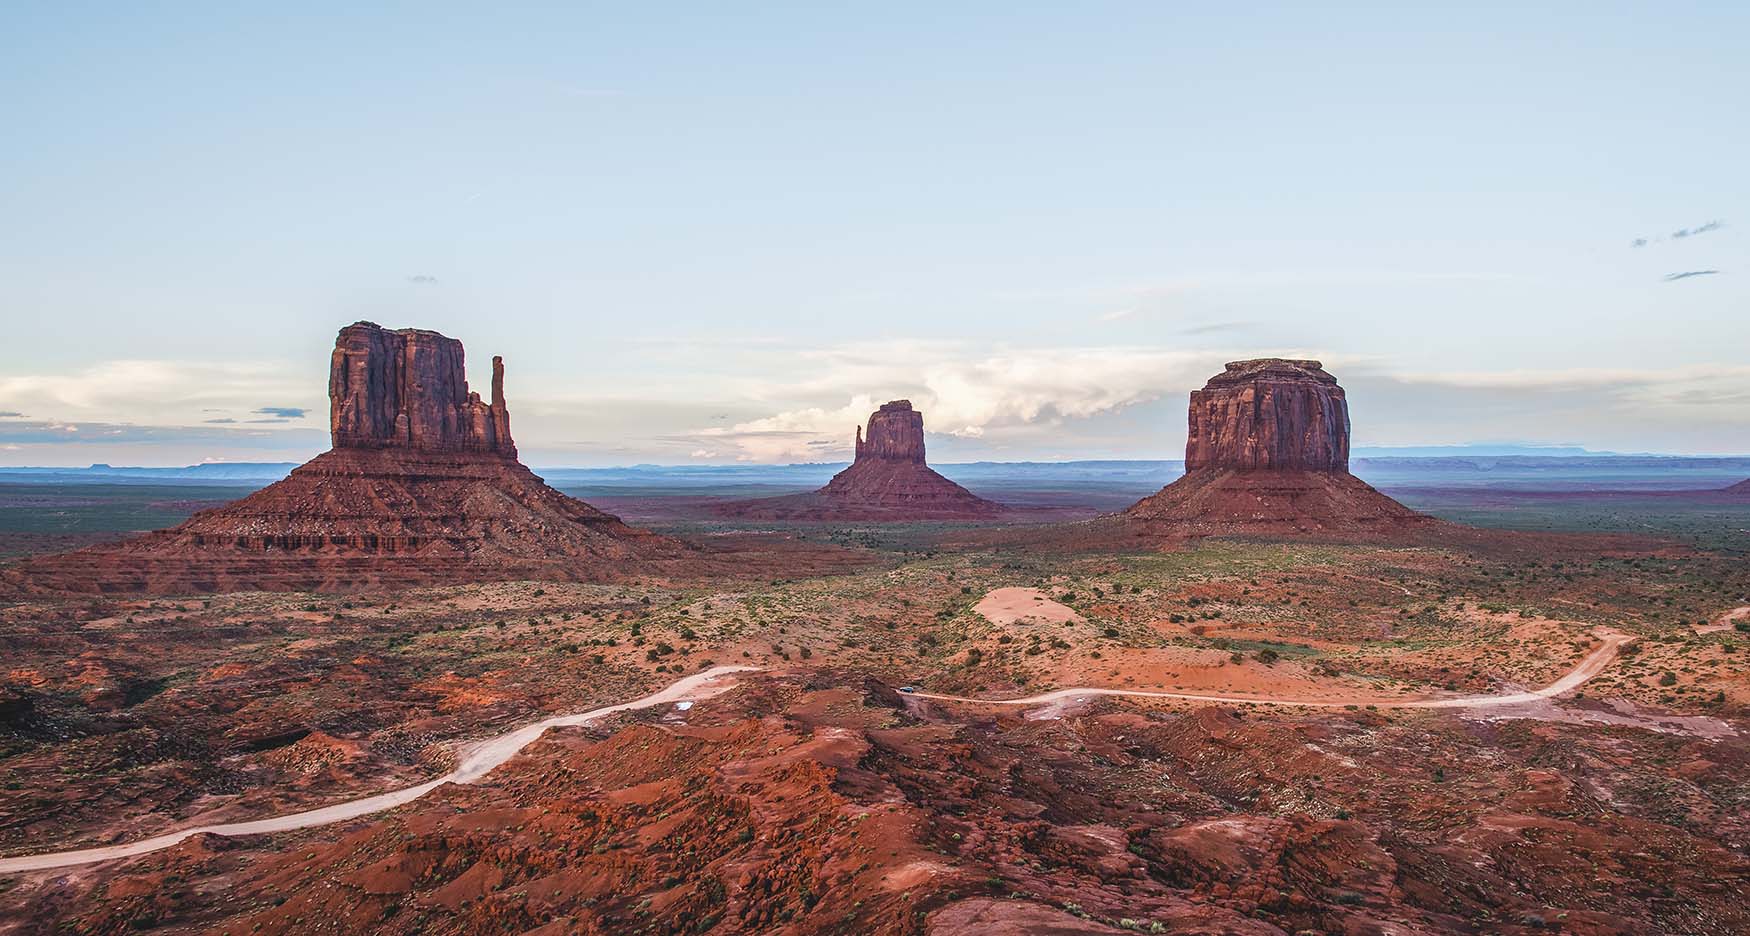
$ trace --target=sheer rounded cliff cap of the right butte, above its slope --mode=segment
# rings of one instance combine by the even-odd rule
[[[1185,471],[1349,471],[1349,404],[1318,360],[1236,360],[1192,390]]]

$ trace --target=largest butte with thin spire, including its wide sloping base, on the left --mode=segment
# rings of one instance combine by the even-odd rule
[[[691,548],[550,488],[516,460],[504,360],[492,401],[462,343],[357,322],[329,362],[332,448],[180,527],[28,560],[18,590],[322,590],[457,581],[612,579]]]

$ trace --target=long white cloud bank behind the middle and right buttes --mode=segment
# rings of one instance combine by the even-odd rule
[[[1750,448],[1743,411],[1750,367],[1572,367],[1522,371],[1402,371],[1390,359],[1314,348],[1164,346],[1022,348],[982,352],[954,343],[878,343],[791,352],[735,381],[737,397],[770,416],[695,429],[677,444],[758,462],[850,457],[854,427],[889,399],[910,399],[926,429],[952,436],[957,451],[1172,451],[1183,439],[1185,394],[1227,360],[1276,353],[1314,357],[1349,388],[1356,437],[1419,444],[1480,437],[1584,436],[1594,448],[1740,451]],[[1146,437],[1115,434],[1106,416],[1162,401]],[[698,423],[695,423],[698,425]],[[1104,429],[1096,429],[1097,425]],[[1102,436],[1104,434],[1104,436]],[[1631,437],[1633,436],[1633,437]],[[1642,437],[1636,444],[1634,437]],[[1699,444],[1698,439],[1704,441]],[[975,446],[975,448],[966,448]]]

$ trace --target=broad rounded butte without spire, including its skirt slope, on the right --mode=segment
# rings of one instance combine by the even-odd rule
[[[1160,535],[1433,523],[1349,474],[1349,402],[1318,360],[1236,360],[1192,390],[1185,476],[1122,518]]]

